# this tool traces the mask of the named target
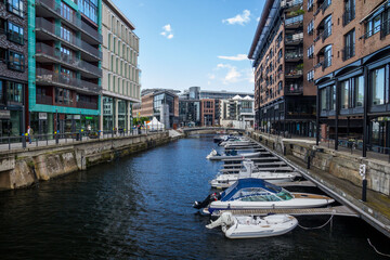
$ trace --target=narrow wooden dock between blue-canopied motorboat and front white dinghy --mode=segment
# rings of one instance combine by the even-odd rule
[[[222,212],[229,211],[237,216],[268,216],[268,214],[291,214],[291,216],[344,216],[359,217],[359,214],[347,206],[335,206],[329,208],[306,208],[306,209],[243,209],[243,210],[218,210],[212,213],[213,217],[220,216]]]

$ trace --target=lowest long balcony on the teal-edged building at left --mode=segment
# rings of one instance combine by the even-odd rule
[[[56,83],[61,87],[66,87],[83,93],[98,94],[101,87],[99,84],[79,79],[72,78],[66,75],[62,75],[57,72],[49,70],[46,68],[37,68],[36,80],[42,84],[53,84]]]

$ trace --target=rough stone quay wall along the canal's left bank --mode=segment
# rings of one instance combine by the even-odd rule
[[[168,132],[0,152],[0,191],[30,186],[171,140]]]

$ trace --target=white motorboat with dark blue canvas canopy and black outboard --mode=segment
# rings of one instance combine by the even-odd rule
[[[219,194],[217,200],[208,200],[208,212],[219,210],[273,209],[273,208],[315,208],[335,200],[330,197],[309,193],[289,193],[261,179],[238,179],[227,190]],[[195,203],[195,208],[205,208],[203,203]]]

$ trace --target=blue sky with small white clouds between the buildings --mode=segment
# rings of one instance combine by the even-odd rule
[[[265,0],[113,0],[140,37],[142,89],[253,92],[246,57]]]

